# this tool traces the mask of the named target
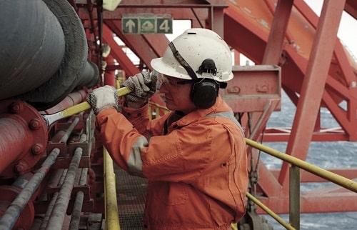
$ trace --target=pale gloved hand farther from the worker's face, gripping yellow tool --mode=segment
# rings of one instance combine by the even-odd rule
[[[113,86],[102,86],[94,89],[86,96],[86,101],[91,104],[94,114],[99,114],[104,109],[116,108],[119,105],[119,96]]]

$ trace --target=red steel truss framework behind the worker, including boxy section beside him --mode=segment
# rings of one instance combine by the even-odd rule
[[[151,69],[151,59],[164,54],[169,40],[164,34],[124,34],[121,28],[124,14],[170,14],[173,19],[191,20],[192,27],[203,26],[221,34],[232,51],[244,54],[257,64],[235,71],[235,79],[228,83],[228,90],[222,92],[233,111],[241,115],[243,126],[248,126],[249,119],[253,132],[246,129],[246,135],[256,141],[287,142],[286,154],[303,160],[311,141],[357,141],[357,64],[337,38],[343,10],[356,19],[357,3],[353,0],[323,1],[320,17],[302,0],[123,0],[115,11],[104,12],[103,26],[98,28],[94,26],[98,19],[96,14],[89,16],[85,6],[78,9],[84,25],[96,31],[94,34],[102,36],[103,42],[111,47],[110,55],[118,64],[108,63],[107,68],[121,69],[126,76],[142,68]],[[139,65],[133,64],[114,35],[134,51],[140,59]],[[93,39],[90,36],[91,33],[89,40]],[[281,69],[278,73],[274,72],[276,66]],[[240,75],[240,71],[244,74]],[[258,94],[253,95],[248,87],[256,84],[253,76],[257,71],[270,80],[267,89],[259,88]],[[278,88],[272,89],[272,86]],[[280,109],[281,89],[296,105],[293,124],[266,128],[271,113]],[[248,99],[242,99],[242,91],[248,92],[244,94]],[[341,102],[346,102],[346,108],[339,106]],[[331,112],[340,128],[321,127],[321,107]],[[248,113],[251,116],[248,117]],[[255,151],[250,154],[257,159]],[[349,179],[357,173],[357,169],[331,171]],[[261,201],[277,213],[287,213],[288,164],[276,170],[260,162],[258,174]],[[301,181],[321,179],[302,172]],[[356,207],[357,195],[341,189],[326,190],[323,195],[321,190],[301,194],[303,213],[357,211]]]

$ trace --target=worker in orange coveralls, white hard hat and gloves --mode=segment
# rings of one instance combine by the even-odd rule
[[[188,29],[151,66],[160,74],[129,77],[118,96],[103,86],[87,96],[104,146],[116,164],[149,180],[144,229],[231,229],[245,213],[246,144],[218,95],[233,78],[231,51],[208,29]],[[157,88],[168,114],[149,121]]]

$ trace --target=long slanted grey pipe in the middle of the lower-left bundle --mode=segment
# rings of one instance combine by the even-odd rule
[[[81,148],[76,148],[74,151],[74,156],[71,160],[71,164],[69,164],[69,169],[67,171],[66,178],[64,179],[64,184],[61,186],[59,196],[57,197],[54,210],[51,213],[51,217],[47,223],[46,229],[62,229],[64,216],[68,208],[69,200],[71,199],[74,179],[76,177],[76,171],[78,170],[82,153],[83,149]]]

